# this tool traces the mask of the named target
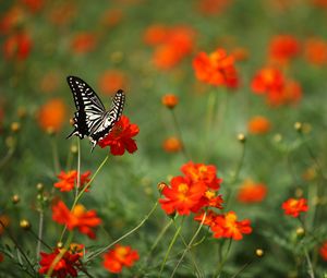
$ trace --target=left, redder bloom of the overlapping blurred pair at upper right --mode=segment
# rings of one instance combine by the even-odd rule
[[[281,92],[284,86],[283,74],[275,68],[259,70],[252,80],[251,87],[256,94]]]

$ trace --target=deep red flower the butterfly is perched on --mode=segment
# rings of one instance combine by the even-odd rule
[[[110,152],[113,156],[122,156],[125,149],[133,154],[137,149],[137,145],[134,136],[138,134],[137,124],[130,123],[130,119],[122,116],[120,120],[114,124],[112,131],[101,141],[98,145],[104,148],[110,146]]]

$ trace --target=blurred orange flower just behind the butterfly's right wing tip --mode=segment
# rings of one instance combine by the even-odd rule
[[[102,94],[113,95],[118,89],[125,89],[128,86],[128,78],[125,74],[118,70],[110,70],[104,72],[98,81],[99,89]]]

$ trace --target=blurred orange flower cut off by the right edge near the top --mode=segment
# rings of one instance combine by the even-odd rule
[[[327,63],[327,43],[320,38],[310,38],[304,45],[304,57],[313,64]]]

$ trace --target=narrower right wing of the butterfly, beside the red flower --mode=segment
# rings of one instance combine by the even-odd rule
[[[101,138],[106,137],[112,130],[114,123],[120,119],[125,102],[125,94],[119,89],[110,107],[110,110],[105,113],[102,121],[90,131],[89,138],[93,143],[93,148]]]

